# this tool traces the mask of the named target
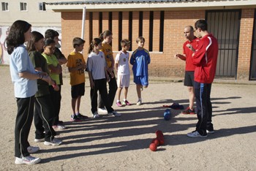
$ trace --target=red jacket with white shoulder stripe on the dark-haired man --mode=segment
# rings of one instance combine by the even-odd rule
[[[198,83],[212,83],[214,81],[217,58],[218,41],[212,34],[207,34],[197,43],[192,64],[196,65],[194,80]]]

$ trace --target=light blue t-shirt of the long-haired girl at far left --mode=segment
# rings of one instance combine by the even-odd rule
[[[14,84],[15,97],[27,98],[36,94],[37,80],[29,80],[19,76],[19,72],[37,73],[24,45],[15,47],[13,50],[10,56],[10,72],[12,83]]]

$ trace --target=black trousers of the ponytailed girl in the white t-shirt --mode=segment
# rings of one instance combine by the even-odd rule
[[[108,99],[108,91],[106,85],[106,79],[94,80],[94,89],[91,89],[91,112],[95,113],[97,111],[97,98],[99,91],[99,95],[102,97],[102,101],[105,104],[108,113],[113,112],[113,108],[111,107],[110,100]]]

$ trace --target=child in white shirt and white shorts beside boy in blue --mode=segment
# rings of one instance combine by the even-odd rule
[[[131,42],[128,39],[122,39],[121,42],[121,51],[116,55],[116,72],[118,72],[118,89],[117,89],[117,102],[116,105],[121,107],[124,105],[130,105],[127,101],[127,92],[129,88],[129,46]],[[124,87],[124,101],[120,102],[121,90]]]

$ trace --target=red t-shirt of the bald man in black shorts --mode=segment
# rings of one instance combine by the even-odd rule
[[[197,47],[197,43],[200,41],[200,39],[198,39],[197,37],[194,37],[194,39],[192,39],[191,42],[189,42],[189,40],[187,40],[187,42],[184,42],[184,45],[183,45],[183,51],[186,55],[186,69],[185,71],[195,71],[195,65],[192,64],[192,61],[191,61],[191,57],[192,57],[192,54],[193,54],[193,51],[192,50],[189,50],[189,47],[187,47],[187,44],[191,44],[192,47],[195,49]]]

